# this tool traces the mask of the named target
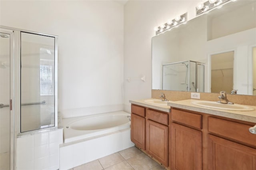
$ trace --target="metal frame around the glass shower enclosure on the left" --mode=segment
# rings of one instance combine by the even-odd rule
[[[45,130],[58,128],[58,36],[21,30],[0,25],[0,31],[10,34],[10,99],[12,99],[12,111],[10,111],[10,170],[16,170],[16,138],[22,135],[33,134]],[[28,132],[20,131],[20,34],[21,32],[54,37],[54,127],[48,127]]]

